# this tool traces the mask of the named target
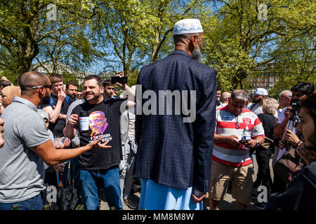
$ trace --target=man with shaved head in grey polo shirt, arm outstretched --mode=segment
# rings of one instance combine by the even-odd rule
[[[57,165],[92,148],[110,148],[93,139],[79,148],[57,150],[51,141],[39,104],[49,102],[51,82],[44,74],[29,71],[20,78],[21,97],[14,97],[1,118],[4,120],[4,146],[0,149],[0,210],[40,210],[44,186],[44,163]],[[65,148],[62,146],[62,148]]]

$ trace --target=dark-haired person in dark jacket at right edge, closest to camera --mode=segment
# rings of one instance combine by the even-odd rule
[[[316,94],[303,99],[300,105],[296,132],[303,144],[296,150],[307,167],[289,183],[284,193],[270,196],[267,210],[316,210]]]

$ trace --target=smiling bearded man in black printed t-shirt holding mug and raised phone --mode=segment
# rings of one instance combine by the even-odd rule
[[[117,83],[122,90],[135,96],[135,92],[125,84]],[[81,189],[84,193],[86,209],[99,209],[98,192],[105,190],[109,207],[122,209],[121,189],[119,187],[119,162],[121,160],[121,135],[119,116],[121,104],[125,99],[104,99],[104,87],[99,76],[91,75],[84,78],[85,102],[74,107],[72,115],[65,127],[65,136],[73,139],[80,133],[80,146],[86,146],[93,137],[102,142],[109,141],[109,150],[96,148],[79,157]],[[133,97],[131,97],[133,99]],[[129,105],[129,104],[127,104]],[[130,105],[134,105],[133,102]],[[124,107],[125,108],[125,107]],[[88,131],[79,125],[81,112],[88,112]],[[81,118],[80,118],[81,119]]]

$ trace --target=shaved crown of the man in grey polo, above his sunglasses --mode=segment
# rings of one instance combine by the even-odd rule
[[[27,71],[23,73],[19,83],[21,92],[32,90],[32,87],[36,85],[48,84],[50,84],[49,78],[38,71]]]

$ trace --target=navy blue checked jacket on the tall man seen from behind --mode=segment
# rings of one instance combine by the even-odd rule
[[[187,52],[175,50],[159,62],[140,69],[137,84],[142,85],[144,98],[138,103],[152,110],[157,106],[157,115],[138,115],[140,107],[136,109],[136,177],[152,179],[172,188],[195,186],[203,193],[208,192],[216,113],[216,71],[192,59]],[[145,97],[147,90],[154,91],[156,99]],[[195,90],[193,122],[183,122],[183,118],[190,117],[183,110],[176,115],[176,97],[172,98],[172,115],[166,115],[164,97],[164,115],[161,115],[159,90],[178,90],[181,98],[178,103],[188,105],[187,108],[194,97],[186,100],[182,92],[187,91],[190,96],[190,90]],[[139,99],[142,97],[136,90],[136,101]]]

